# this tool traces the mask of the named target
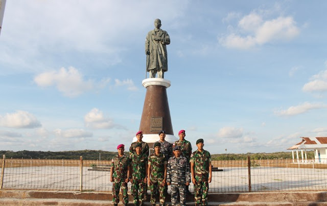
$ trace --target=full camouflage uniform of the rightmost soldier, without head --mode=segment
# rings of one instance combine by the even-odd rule
[[[196,184],[194,184],[195,205],[207,205],[209,162],[211,162],[211,155],[206,150],[202,152],[196,150],[192,153],[190,162],[194,163],[194,176],[196,181]]]

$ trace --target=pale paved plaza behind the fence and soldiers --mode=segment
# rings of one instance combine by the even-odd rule
[[[4,171],[3,189],[111,191],[109,172],[88,171],[91,167],[16,167]],[[249,192],[247,168],[219,168],[213,172],[209,192]],[[325,169],[251,168],[251,191],[318,191],[327,189]],[[128,184],[129,191],[131,184]],[[169,187],[170,189],[170,187]],[[190,190],[193,191],[191,183]],[[170,191],[170,190],[169,190]]]

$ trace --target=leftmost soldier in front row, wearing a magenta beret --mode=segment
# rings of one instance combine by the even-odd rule
[[[119,203],[119,189],[122,189],[124,205],[128,204],[127,183],[130,177],[129,158],[124,154],[124,145],[117,147],[118,155],[111,160],[110,181],[112,183],[112,203],[117,206]]]

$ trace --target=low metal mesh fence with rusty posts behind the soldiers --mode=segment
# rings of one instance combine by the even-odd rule
[[[110,161],[2,159],[0,189],[111,191]],[[292,159],[213,161],[209,192],[324,191],[327,163]],[[130,188],[130,183],[128,184]],[[170,187],[168,188],[170,189]],[[190,187],[193,190],[193,187]],[[129,190],[130,191],[130,190]]]

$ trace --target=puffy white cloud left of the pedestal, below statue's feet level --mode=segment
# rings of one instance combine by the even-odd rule
[[[50,71],[38,74],[34,78],[40,87],[56,86],[65,96],[75,97],[83,92],[94,88],[92,80],[84,80],[83,75],[74,67],[60,68],[58,71]]]

